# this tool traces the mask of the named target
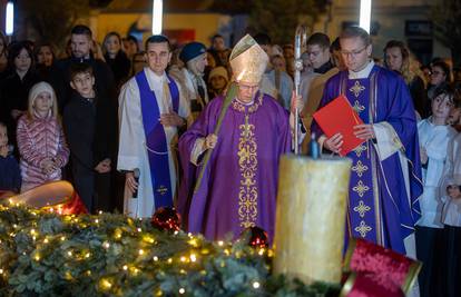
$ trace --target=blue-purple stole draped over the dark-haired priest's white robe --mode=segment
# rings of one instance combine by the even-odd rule
[[[176,82],[167,75],[168,88],[171,95],[173,109],[178,112],[179,91]],[[155,200],[155,208],[171,207],[173,192],[169,176],[168,143],[164,126],[158,120],[160,109],[155,92],[150,90],[145,71],[136,75],[140,95],[143,126],[146,136],[147,156],[149,158],[150,177]]]

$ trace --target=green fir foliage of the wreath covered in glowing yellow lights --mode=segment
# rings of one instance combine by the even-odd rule
[[[168,234],[120,215],[0,206],[0,296],[337,296],[337,286],[271,276],[271,259],[243,241]]]

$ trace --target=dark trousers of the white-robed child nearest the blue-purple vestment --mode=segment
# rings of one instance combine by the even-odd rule
[[[440,276],[444,250],[443,229],[416,226],[416,257],[423,266],[418,277],[421,297],[443,296]]]

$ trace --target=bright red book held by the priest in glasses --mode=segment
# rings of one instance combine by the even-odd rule
[[[345,156],[365,142],[365,140],[354,136],[354,126],[362,125],[363,121],[344,95],[317,110],[313,117],[326,137],[330,138],[335,133],[343,135],[341,156]]]

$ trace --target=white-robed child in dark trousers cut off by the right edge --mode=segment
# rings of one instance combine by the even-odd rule
[[[461,296],[461,133],[449,143],[440,196],[445,200],[442,212],[447,247],[445,296]]]

